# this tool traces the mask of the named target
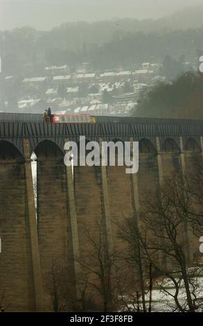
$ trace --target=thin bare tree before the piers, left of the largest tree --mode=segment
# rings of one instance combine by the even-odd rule
[[[103,221],[96,222],[97,234],[95,236],[84,226],[85,239],[88,246],[87,252],[78,259],[82,267],[80,284],[85,284],[87,293],[91,298],[96,298],[99,309],[111,311],[118,304],[116,286],[120,269],[116,266],[116,253],[109,255],[107,237]],[[99,303],[100,302],[100,303]]]

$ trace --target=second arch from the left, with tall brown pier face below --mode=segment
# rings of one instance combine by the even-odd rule
[[[65,268],[73,280],[73,252],[69,196],[64,153],[55,141],[43,139],[35,147],[37,155],[37,230],[42,280],[53,266]],[[73,282],[66,284],[73,291]],[[67,290],[68,291],[68,290]],[[50,307],[51,297],[44,286],[44,304]]]

